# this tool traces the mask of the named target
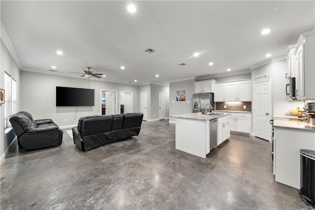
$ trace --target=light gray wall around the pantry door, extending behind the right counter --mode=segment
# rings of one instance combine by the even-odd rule
[[[273,115],[290,115],[288,110],[295,110],[296,107],[303,107],[303,101],[287,101],[285,93],[285,72],[286,61],[276,61],[260,66],[252,70],[252,81],[254,77],[262,74],[269,74],[271,78],[272,107]]]

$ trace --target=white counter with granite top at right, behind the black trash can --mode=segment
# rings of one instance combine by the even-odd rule
[[[300,189],[300,150],[315,150],[315,129],[297,118],[274,117],[273,125],[275,180]]]

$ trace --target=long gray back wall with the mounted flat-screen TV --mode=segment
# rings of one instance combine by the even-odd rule
[[[95,90],[95,106],[56,107],[56,86]],[[133,111],[138,112],[138,86],[110,83],[82,78],[64,77],[21,71],[21,110],[30,112],[34,119],[49,118],[59,126],[77,125],[79,118],[101,115],[101,90],[133,91]],[[118,104],[119,107],[119,104]],[[66,122],[64,122],[66,119]],[[74,120],[76,119],[76,120]]]

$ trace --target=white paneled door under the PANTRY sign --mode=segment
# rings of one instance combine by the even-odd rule
[[[254,136],[271,141],[272,104],[270,81],[254,84],[253,91],[253,133]]]

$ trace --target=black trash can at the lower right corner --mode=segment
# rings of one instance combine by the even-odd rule
[[[315,150],[300,150],[300,196],[315,206]]]

